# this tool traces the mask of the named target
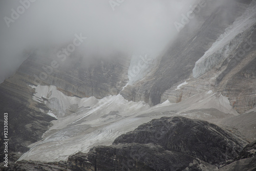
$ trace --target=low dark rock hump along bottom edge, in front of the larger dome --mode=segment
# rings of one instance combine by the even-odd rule
[[[197,158],[167,151],[157,144],[119,144],[98,146],[87,154],[78,153],[69,157],[77,170],[202,170],[216,166]]]

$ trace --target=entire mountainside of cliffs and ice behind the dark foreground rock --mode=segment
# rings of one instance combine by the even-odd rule
[[[69,156],[77,152],[87,153],[93,146],[111,145],[121,134],[163,116],[203,119],[236,134],[237,141],[254,141],[255,9],[256,1],[207,1],[179,32],[176,40],[153,60],[143,58],[141,61],[121,53],[83,57],[73,53],[63,62],[56,56],[61,47],[29,51],[26,54],[29,57],[16,73],[0,85],[0,112],[10,115],[10,161],[23,155],[20,160],[37,160],[37,164],[68,159],[74,164],[77,158],[87,155],[77,154],[73,159]],[[55,60],[58,67],[49,68]],[[138,72],[133,70],[136,67]],[[181,120],[189,122],[189,119]],[[2,123],[3,119],[0,121]],[[200,123],[207,125],[207,129],[203,129],[205,133],[212,131],[212,125]],[[180,131],[181,135],[187,136],[186,132]],[[226,131],[220,132],[225,138],[232,139]],[[146,135],[146,131],[142,134]],[[0,138],[3,143],[3,134]],[[191,169],[194,166],[202,169],[202,164],[210,168],[215,168],[212,165],[216,163],[216,166],[226,164],[242,149],[241,143],[233,146],[239,148],[233,154],[220,149],[217,152],[221,152],[222,159],[219,160],[210,158],[210,153],[195,155],[197,148],[193,151],[189,147],[187,152],[183,143],[170,145],[175,152],[165,152],[170,148],[161,142],[156,146],[139,141],[125,143],[93,148],[89,152],[91,160],[97,156],[96,152],[108,152],[116,164],[112,160],[115,158],[113,151],[125,149],[128,153],[135,147],[145,149],[148,155],[156,153],[156,163],[163,156],[176,163],[173,154],[186,159],[183,166],[193,163]],[[232,139],[231,144],[234,143]],[[225,147],[231,149],[227,144]],[[3,155],[3,150],[1,152]],[[132,157],[127,156],[127,159]],[[91,163],[85,164],[91,169],[94,168]],[[149,163],[144,169],[155,169]],[[137,164],[138,167],[143,165],[141,162]]]

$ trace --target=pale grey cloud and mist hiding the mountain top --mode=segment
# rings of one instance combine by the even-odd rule
[[[174,22],[198,0],[124,0],[115,10],[109,0],[33,0],[23,12],[27,1],[0,1],[0,82],[24,60],[24,50],[59,46],[80,33],[87,37],[82,55],[158,54],[177,36]],[[8,27],[12,9],[21,14]]]

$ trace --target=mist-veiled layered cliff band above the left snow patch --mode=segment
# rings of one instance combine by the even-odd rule
[[[66,95],[78,97],[117,95],[127,82],[129,58],[122,54],[92,59],[74,54],[62,61],[55,51],[33,51],[17,72],[28,77],[31,85],[53,85]],[[56,61],[54,67],[52,61]]]

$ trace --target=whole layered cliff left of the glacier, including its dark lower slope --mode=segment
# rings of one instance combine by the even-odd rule
[[[59,60],[59,66],[51,70],[49,67],[55,59],[51,57],[51,51],[44,52],[31,53],[16,73],[0,85],[0,112],[9,113],[9,152],[15,152],[14,161],[29,150],[29,144],[41,139],[49,129],[50,121],[55,119],[47,115],[49,110],[57,108],[56,105],[53,107],[54,99],[48,101],[46,97],[44,102],[44,98],[39,97],[39,101],[34,101],[35,91],[31,86],[37,86],[37,83],[56,85],[59,91],[69,96],[102,98],[118,94],[127,82],[129,60],[125,57],[94,58],[87,61],[86,68],[82,67],[84,61],[70,57],[66,63]],[[66,112],[62,111],[58,116],[65,116]],[[67,112],[70,113],[74,112]],[[1,119],[1,123],[3,121]],[[1,132],[1,143],[3,140]],[[1,150],[1,154],[3,152]]]

